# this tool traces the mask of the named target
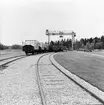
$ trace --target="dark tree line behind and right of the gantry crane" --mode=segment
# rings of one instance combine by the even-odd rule
[[[71,39],[62,39],[61,41],[51,41],[50,45],[60,45],[66,46],[67,49],[71,49],[72,40]],[[94,37],[94,38],[81,38],[80,40],[76,40],[74,42],[74,49],[104,49],[104,36]]]

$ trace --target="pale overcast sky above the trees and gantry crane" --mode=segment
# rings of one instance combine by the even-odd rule
[[[0,0],[2,44],[21,44],[24,40],[46,42],[46,29],[73,30],[76,39],[101,37],[104,0]],[[60,38],[51,36],[51,40]]]

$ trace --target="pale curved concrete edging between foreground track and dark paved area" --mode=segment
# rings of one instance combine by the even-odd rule
[[[99,100],[101,103],[104,104],[104,92],[99,90],[97,87],[93,86],[89,82],[85,81],[84,79],[80,78],[76,74],[70,72],[69,70],[65,69],[61,66],[58,62],[56,62],[53,58],[54,54],[51,56],[50,60],[51,63],[59,69],[63,74],[65,74],[68,78],[72,79],[76,84],[78,84],[81,88],[83,88],[86,92],[90,93],[93,97]]]

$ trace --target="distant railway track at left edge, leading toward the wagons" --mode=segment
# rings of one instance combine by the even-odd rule
[[[26,56],[21,55],[21,56],[14,56],[14,57],[5,58],[5,59],[0,60],[0,69],[2,70],[3,68],[6,67],[7,64],[9,64],[13,61],[19,60],[21,58],[24,58],[24,57],[26,57]]]

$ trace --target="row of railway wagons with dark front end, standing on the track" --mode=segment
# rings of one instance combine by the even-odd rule
[[[24,51],[26,55],[46,52],[60,52],[66,50],[65,46],[49,45],[47,43],[38,42],[37,40],[25,40],[22,42],[22,45],[22,51]]]

